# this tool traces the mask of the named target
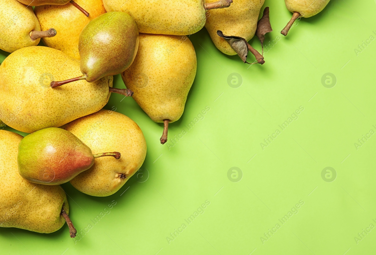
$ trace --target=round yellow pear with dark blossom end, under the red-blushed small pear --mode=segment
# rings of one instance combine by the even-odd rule
[[[96,158],[90,169],[70,181],[85,194],[98,197],[114,194],[144,162],[144,135],[133,120],[121,113],[100,110],[68,123],[65,129],[90,146],[94,153],[114,150],[121,153],[118,160]]]

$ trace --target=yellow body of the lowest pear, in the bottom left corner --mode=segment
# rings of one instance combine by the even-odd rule
[[[61,186],[34,184],[18,173],[18,144],[22,137],[0,130],[0,226],[39,233],[60,229],[69,213],[67,197]]]

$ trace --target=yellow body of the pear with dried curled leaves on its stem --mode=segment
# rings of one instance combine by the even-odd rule
[[[206,0],[206,3],[216,0]],[[218,50],[227,55],[237,53],[223,38],[217,35],[221,30],[224,35],[240,36],[249,41],[257,28],[260,9],[265,0],[236,0],[230,7],[208,11],[205,27]]]

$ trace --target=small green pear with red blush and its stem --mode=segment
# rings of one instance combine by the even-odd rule
[[[59,185],[88,170],[94,159],[103,156],[120,158],[119,152],[93,155],[71,132],[49,127],[24,137],[18,146],[18,172],[29,182]]]

